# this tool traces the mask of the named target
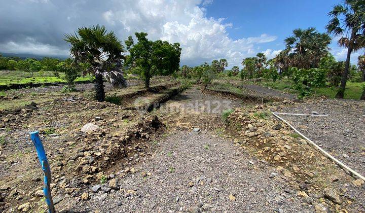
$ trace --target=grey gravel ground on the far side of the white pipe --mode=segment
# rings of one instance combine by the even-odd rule
[[[279,116],[338,160],[365,175],[365,102],[323,100],[282,110],[301,114],[311,114],[313,111],[329,116]]]

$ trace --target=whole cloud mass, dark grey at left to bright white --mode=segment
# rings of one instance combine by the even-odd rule
[[[224,18],[206,16],[211,0],[140,1],[11,1],[0,9],[0,51],[44,55],[67,55],[64,33],[80,26],[103,24],[121,40],[135,31],[149,39],[180,43],[181,65],[197,65],[227,58],[239,65],[242,58],[257,52],[257,45],[275,41],[265,32],[257,37],[231,39]],[[268,51],[268,50],[267,50]],[[271,51],[271,50],[270,50]],[[268,53],[270,57],[275,51]]]

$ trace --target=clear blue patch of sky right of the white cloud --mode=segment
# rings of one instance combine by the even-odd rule
[[[265,51],[284,49],[284,39],[295,28],[315,27],[319,32],[325,32],[330,19],[327,13],[341,3],[339,0],[215,0],[206,6],[206,14],[216,19],[225,18],[224,23],[232,23],[227,32],[234,40],[255,37],[258,33],[275,35],[275,41],[257,47],[260,48],[258,51]],[[335,54],[342,50],[337,40],[332,42],[331,49]]]

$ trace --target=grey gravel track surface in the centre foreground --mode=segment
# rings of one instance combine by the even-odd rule
[[[204,131],[179,131],[155,146],[155,154],[135,165],[134,174],[119,176],[120,191],[109,195],[102,191],[94,193],[90,200],[82,201],[73,209],[101,212],[312,211],[308,205],[302,206],[301,200],[289,199],[296,195],[284,192],[286,185],[280,175],[269,178],[275,169],[251,158],[233,146],[231,140],[219,139]],[[235,200],[231,200],[230,195]]]

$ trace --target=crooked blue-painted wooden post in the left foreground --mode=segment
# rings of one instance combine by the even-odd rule
[[[51,168],[48,164],[46,152],[44,150],[41,138],[39,136],[38,131],[29,132],[30,139],[33,142],[33,145],[37,151],[37,155],[39,158],[39,161],[42,166],[42,170],[44,171],[44,186],[43,186],[43,192],[46,197],[46,202],[48,205],[48,212],[54,213],[54,205],[51,195]]]

